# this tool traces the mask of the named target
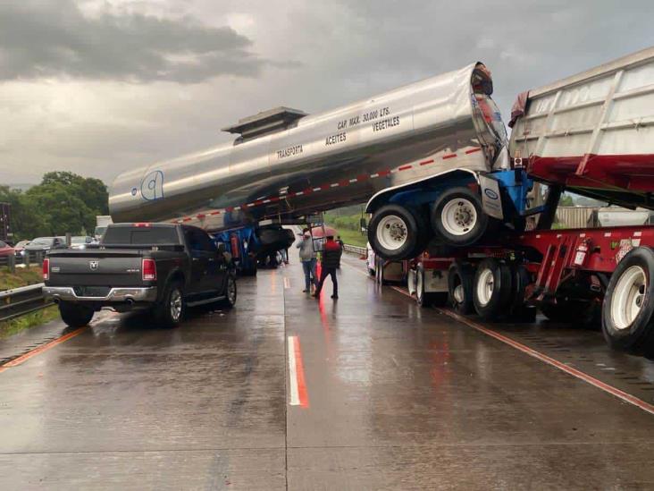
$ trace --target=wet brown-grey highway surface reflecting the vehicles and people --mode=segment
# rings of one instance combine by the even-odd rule
[[[654,416],[379,289],[356,258],[339,301],[329,280],[312,300],[295,261],[240,280],[237,309],[175,330],[108,315],[2,371],[0,489],[654,487]],[[597,333],[495,328],[618,383],[606,359],[654,395],[650,361],[608,354]]]

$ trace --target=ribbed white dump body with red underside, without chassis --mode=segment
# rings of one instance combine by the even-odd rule
[[[652,207],[654,48],[530,93],[511,136],[532,175],[581,194]],[[599,194],[598,194],[599,193]]]

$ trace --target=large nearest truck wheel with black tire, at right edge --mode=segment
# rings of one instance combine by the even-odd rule
[[[608,282],[602,304],[602,332],[612,348],[651,354],[654,342],[654,250],[637,247]]]

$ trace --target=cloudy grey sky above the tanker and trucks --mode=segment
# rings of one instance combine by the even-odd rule
[[[0,183],[111,182],[258,111],[477,60],[507,115],[521,90],[653,45],[652,18],[651,0],[2,0]]]

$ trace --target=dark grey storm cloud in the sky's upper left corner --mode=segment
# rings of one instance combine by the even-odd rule
[[[230,27],[138,13],[85,17],[71,0],[0,3],[0,80],[53,76],[173,80],[256,76],[265,60]]]

